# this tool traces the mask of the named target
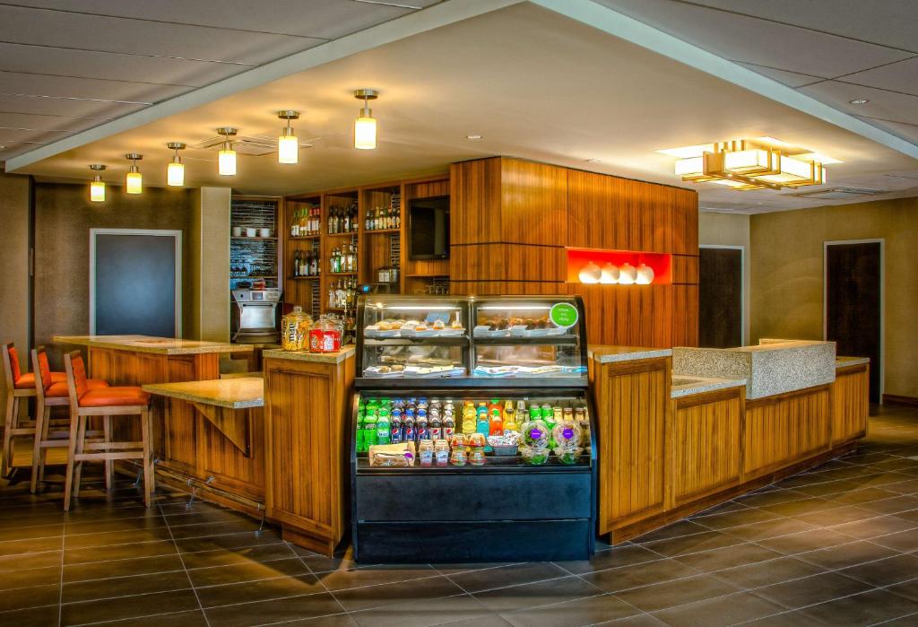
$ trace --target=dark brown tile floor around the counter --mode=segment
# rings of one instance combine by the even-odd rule
[[[0,487],[0,624],[916,625],[918,410],[856,452],[588,562],[356,565],[128,481]]]

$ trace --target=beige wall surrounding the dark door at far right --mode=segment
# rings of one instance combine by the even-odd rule
[[[823,242],[885,240],[886,394],[918,397],[918,198],[752,216],[752,340],[823,338]]]

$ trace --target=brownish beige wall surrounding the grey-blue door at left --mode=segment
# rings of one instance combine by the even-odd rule
[[[56,334],[89,332],[89,230],[181,230],[183,303],[193,290],[187,268],[191,192],[145,187],[139,196],[108,185],[106,201],[89,201],[87,185],[35,185],[35,339],[48,344]],[[190,308],[183,306],[183,327]],[[187,337],[187,332],[185,331]],[[49,347],[51,348],[51,347]],[[52,366],[60,355],[51,351]]]

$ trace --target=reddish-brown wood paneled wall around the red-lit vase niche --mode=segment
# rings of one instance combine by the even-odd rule
[[[509,157],[453,163],[454,294],[579,294],[596,344],[698,345],[698,195]],[[672,285],[568,284],[571,248],[665,252]]]

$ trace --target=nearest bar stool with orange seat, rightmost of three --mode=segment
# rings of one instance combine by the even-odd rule
[[[80,496],[80,476],[86,461],[140,459],[143,470],[143,502],[148,508],[151,494],[156,488],[153,476],[150,394],[134,386],[100,387],[91,390],[86,382],[86,367],[79,351],[64,355],[67,368],[67,392],[70,397],[70,443],[67,448],[67,479],[63,491],[63,509],[70,509],[70,498]],[[109,421],[116,416],[140,416],[140,442],[86,442],[86,423],[94,417],[106,422],[105,431],[111,433]],[[74,482],[76,486],[74,487]]]

